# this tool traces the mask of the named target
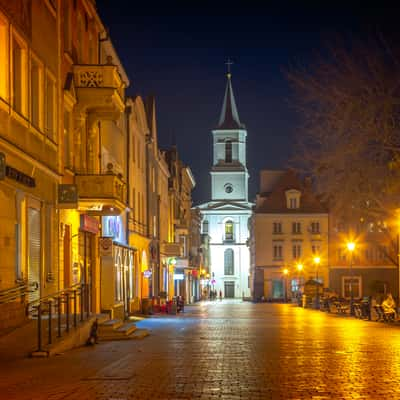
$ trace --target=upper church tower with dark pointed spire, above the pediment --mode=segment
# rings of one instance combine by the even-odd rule
[[[219,123],[212,134],[214,157],[211,168],[211,199],[247,202],[247,131],[239,119],[230,73],[227,74]]]

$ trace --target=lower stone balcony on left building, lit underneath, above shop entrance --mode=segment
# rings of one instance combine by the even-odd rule
[[[92,215],[119,215],[126,209],[126,187],[115,174],[76,175],[78,209]]]

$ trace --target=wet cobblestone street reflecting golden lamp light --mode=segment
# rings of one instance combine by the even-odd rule
[[[202,303],[103,342],[2,363],[1,399],[400,399],[400,327],[286,304]]]

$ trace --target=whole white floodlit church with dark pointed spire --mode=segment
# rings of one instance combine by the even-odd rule
[[[246,167],[245,126],[240,122],[232,90],[231,74],[221,116],[213,135],[211,201],[198,208],[202,233],[210,236],[210,283],[225,298],[250,296],[249,173]]]

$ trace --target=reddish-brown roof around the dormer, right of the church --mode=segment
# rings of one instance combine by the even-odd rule
[[[300,207],[287,208],[286,191],[298,190],[301,192]],[[254,208],[257,214],[323,214],[328,209],[313,193],[311,184],[304,183],[293,170],[285,171],[269,192],[260,193]]]

